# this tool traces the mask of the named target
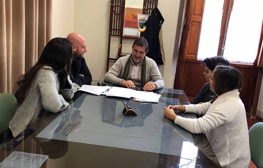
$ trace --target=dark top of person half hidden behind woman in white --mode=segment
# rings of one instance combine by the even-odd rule
[[[212,100],[212,97],[214,96],[214,93],[210,90],[210,83],[207,82],[201,91],[198,93],[198,95],[195,97],[195,99],[192,101],[192,104],[198,104],[200,102],[208,102]]]

